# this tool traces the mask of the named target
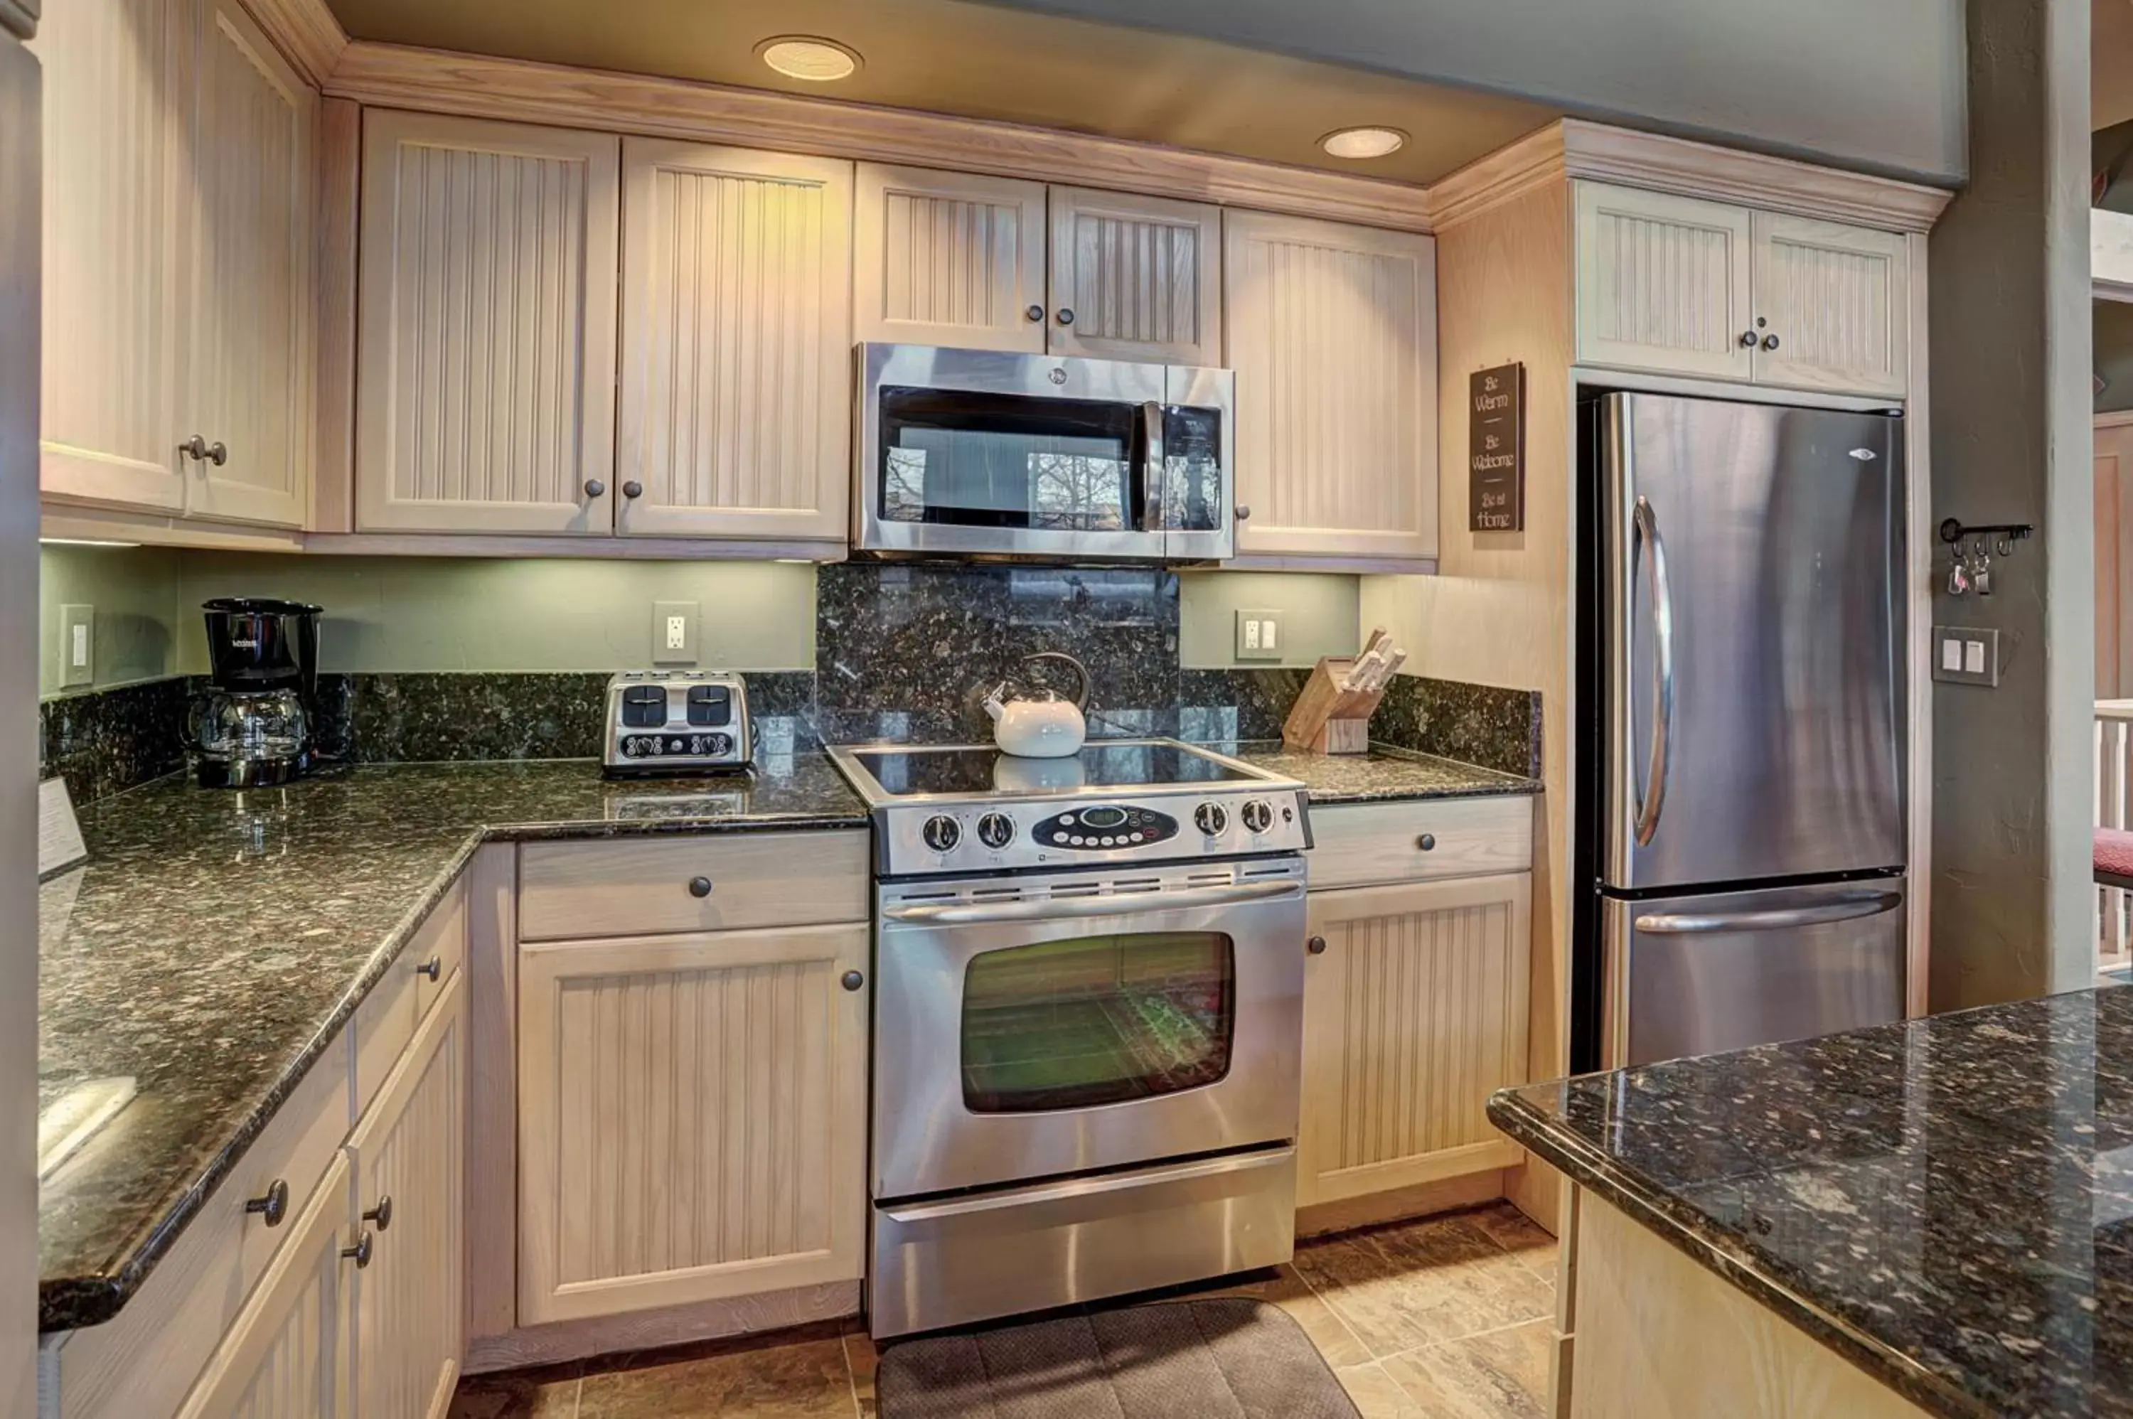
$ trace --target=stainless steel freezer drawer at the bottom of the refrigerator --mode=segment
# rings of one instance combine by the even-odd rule
[[[1905,881],[1604,898],[1610,1069],[1903,1018]]]

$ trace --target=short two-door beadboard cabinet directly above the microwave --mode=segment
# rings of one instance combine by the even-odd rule
[[[1205,203],[862,162],[857,339],[1222,363]]]

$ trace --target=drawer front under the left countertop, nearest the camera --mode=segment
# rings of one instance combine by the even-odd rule
[[[348,1069],[343,1033],[311,1063],[126,1308],[66,1338],[60,1349],[62,1419],[177,1413],[339,1157],[348,1137]],[[245,1212],[245,1201],[267,1197],[275,1182],[288,1189],[288,1203],[269,1225],[262,1212]]]

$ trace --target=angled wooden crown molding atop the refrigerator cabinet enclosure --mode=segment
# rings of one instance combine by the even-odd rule
[[[1429,188],[1431,222],[1436,230],[1448,230],[1568,177],[1894,233],[1932,230],[1954,198],[1954,192],[1892,177],[1566,117]]]

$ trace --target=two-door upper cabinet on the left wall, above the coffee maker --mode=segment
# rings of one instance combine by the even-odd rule
[[[314,94],[232,0],[79,0],[38,55],[43,491],[301,525]]]

